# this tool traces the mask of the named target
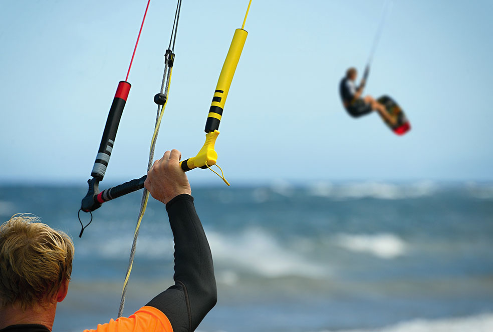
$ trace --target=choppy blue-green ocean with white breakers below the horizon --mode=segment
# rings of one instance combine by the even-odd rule
[[[0,185],[1,221],[30,212],[74,238],[53,331],[95,328],[118,311],[141,192],[105,203],[79,238],[85,193]],[[218,285],[201,332],[493,331],[491,183],[280,182],[192,194]],[[125,315],[171,285],[172,268],[166,211],[151,200]]]

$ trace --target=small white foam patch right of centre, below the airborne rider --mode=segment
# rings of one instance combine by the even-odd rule
[[[408,248],[404,240],[391,233],[339,234],[335,243],[350,251],[370,253],[385,259],[402,256]]]

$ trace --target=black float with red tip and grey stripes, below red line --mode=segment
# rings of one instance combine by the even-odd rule
[[[116,132],[118,130],[118,125],[120,124],[123,108],[127,102],[130,87],[130,83],[128,82],[120,81],[120,83],[118,83],[118,88],[116,89],[115,97],[113,98],[113,103],[111,104],[110,112],[108,113],[108,118],[106,119],[101,144],[99,145],[96,161],[94,162],[94,166],[91,171],[91,176],[99,181],[103,180],[106,167],[110,161],[111,151],[113,150],[113,144],[115,143]]]

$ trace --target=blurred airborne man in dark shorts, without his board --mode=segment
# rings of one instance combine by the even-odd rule
[[[372,111],[377,111],[385,120],[392,125],[395,125],[396,119],[390,116],[384,105],[380,104],[372,96],[362,97],[366,80],[363,78],[360,85],[357,87],[355,83],[357,75],[358,72],[356,71],[356,68],[349,68],[346,71],[346,76],[341,80],[339,85],[342,103],[348,113],[351,116],[358,118],[369,114]]]

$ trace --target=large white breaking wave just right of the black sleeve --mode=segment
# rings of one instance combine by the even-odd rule
[[[317,278],[328,274],[325,266],[282,246],[260,228],[250,228],[233,236],[208,232],[207,238],[214,264],[219,267],[236,266],[265,277],[294,275]],[[234,282],[235,277],[228,274],[224,279]]]

